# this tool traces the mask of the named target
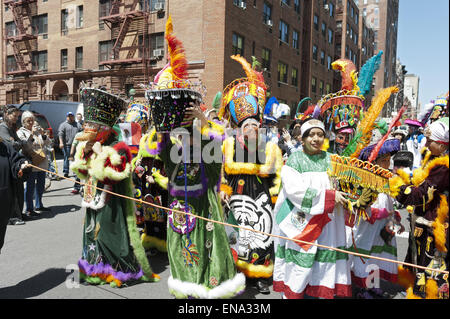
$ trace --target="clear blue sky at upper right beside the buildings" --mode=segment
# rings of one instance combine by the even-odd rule
[[[423,105],[449,90],[449,0],[400,0],[397,57],[420,77]]]

